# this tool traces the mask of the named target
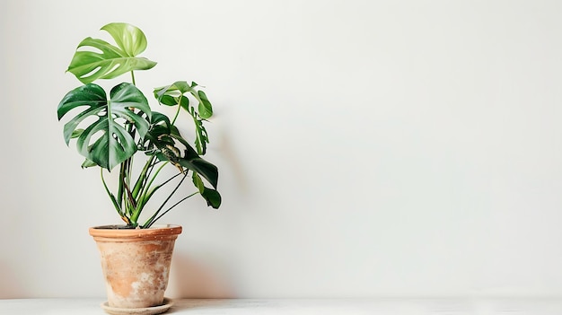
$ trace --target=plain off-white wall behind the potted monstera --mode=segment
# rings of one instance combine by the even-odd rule
[[[220,211],[192,200],[168,295],[562,293],[562,3],[0,4],[0,298],[103,296],[119,223],[56,108],[77,43],[143,29],[146,91],[206,85]]]

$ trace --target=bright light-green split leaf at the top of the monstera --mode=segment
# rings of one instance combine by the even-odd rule
[[[154,61],[137,57],[145,51],[146,38],[136,26],[110,23],[101,30],[108,31],[117,46],[90,37],[80,42],[67,71],[75,74],[82,83],[112,79],[133,70],[147,70],[156,66]]]

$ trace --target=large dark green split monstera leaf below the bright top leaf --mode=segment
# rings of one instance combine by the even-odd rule
[[[96,118],[78,136],[76,148],[79,153],[109,171],[136,153],[135,139],[126,125],[133,125],[136,135],[143,138],[149,127],[143,116],[150,118],[151,110],[145,95],[135,85],[121,83],[115,86],[111,89],[110,101],[97,84],[88,83],[78,87],[68,92],[58,104],[58,119],[80,107],[86,109],[64,127],[66,144],[86,118]]]

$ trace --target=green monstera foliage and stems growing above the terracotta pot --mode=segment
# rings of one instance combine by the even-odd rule
[[[58,104],[58,119],[68,119],[64,125],[66,144],[75,142],[84,157],[83,168],[100,168],[103,188],[128,228],[149,228],[163,214],[195,195],[205,198],[208,206],[218,208],[218,171],[202,158],[209,143],[204,124],[213,115],[206,93],[194,82],[172,82],[148,93],[154,105],[175,108],[169,110],[172,117],[153,110],[135,82],[135,71],[156,66],[154,61],[139,56],[146,48],[145,34],[120,22],[107,24],[101,30],[107,31],[115,44],[83,39],[67,69],[83,85],[68,92]],[[125,74],[130,82],[119,83],[109,92],[96,84]],[[194,134],[189,138],[176,127],[180,118],[193,121]],[[162,171],[164,167],[176,171],[170,175]],[[109,171],[119,172],[117,185],[106,183]],[[164,173],[167,175],[162,178]],[[185,179],[193,183],[194,189],[170,205],[171,197],[179,190],[188,191],[182,186]],[[154,206],[140,222],[148,202],[162,190],[166,193],[161,195],[159,206]]]

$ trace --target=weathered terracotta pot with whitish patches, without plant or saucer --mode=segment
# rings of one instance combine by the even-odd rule
[[[118,229],[108,225],[92,227],[89,232],[100,249],[109,306],[137,309],[162,305],[181,226]]]

